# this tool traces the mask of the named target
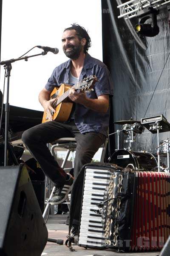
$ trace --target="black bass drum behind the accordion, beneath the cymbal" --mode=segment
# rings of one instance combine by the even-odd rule
[[[156,158],[147,151],[130,151],[127,149],[119,149],[115,151],[109,163],[114,163],[120,167],[129,167],[130,169],[140,171],[151,171],[158,166]]]

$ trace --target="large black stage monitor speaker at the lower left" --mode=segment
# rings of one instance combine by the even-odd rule
[[[0,256],[40,256],[47,239],[26,167],[0,167]]]

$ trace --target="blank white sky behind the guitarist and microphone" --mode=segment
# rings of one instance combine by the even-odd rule
[[[1,61],[19,58],[32,47],[57,47],[59,53],[28,58],[12,63],[9,79],[9,104],[43,111],[38,94],[56,66],[68,60],[62,51],[62,32],[72,23],[88,30],[92,46],[89,54],[102,61],[101,0],[3,0]],[[40,54],[34,48],[26,56]],[[4,68],[0,67],[3,92]],[[4,103],[6,103],[6,85]],[[101,149],[94,159],[99,160]]]

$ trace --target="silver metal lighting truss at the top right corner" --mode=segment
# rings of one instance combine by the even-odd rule
[[[120,9],[120,15],[118,18],[124,17],[125,20],[136,17],[136,14],[146,9],[149,6],[152,6],[154,9],[170,3],[170,0],[130,0],[126,3],[122,3],[117,8]]]

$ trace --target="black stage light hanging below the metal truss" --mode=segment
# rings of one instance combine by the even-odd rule
[[[143,17],[139,24],[136,24],[135,31],[141,36],[153,37],[159,34],[159,26],[157,25],[158,10],[149,7],[147,10],[142,10],[136,15],[136,17]],[[146,20],[151,19],[152,22],[145,23]]]

